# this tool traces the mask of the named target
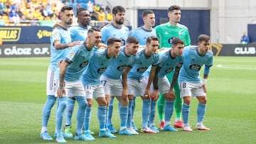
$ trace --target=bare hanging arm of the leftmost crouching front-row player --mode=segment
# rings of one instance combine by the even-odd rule
[[[67,61],[63,61],[62,62],[62,65],[60,66],[60,84],[59,84],[59,87],[58,87],[58,97],[62,97],[63,94],[65,94],[65,82],[64,82],[64,79],[65,79],[65,72],[67,70],[67,67],[68,65],[70,65],[69,62]]]

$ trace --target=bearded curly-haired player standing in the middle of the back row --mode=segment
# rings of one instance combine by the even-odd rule
[[[102,43],[107,44],[108,38],[119,38],[122,40],[122,46],[126,44],[126,40],[129,34],[129,28],[124,26],[124,14],[125,9],[122,6],[114,6],[112,9],[113,21],[107,26],[102,28]],[[114,97],[110,100],[110,97],[107,96],[107,128],[111,133],[117,133],[117,130],[114,129],[112,125],[112,111],[113,111],[113,101]]]

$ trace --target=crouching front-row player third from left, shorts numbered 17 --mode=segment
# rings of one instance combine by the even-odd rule
[[[122,87],[121,74],[125,67],[134,60],[139,48],[139,41],[134,37],[127,39],[127,44],[121,48],[117,58],[112,60],[107,70],[102,74],[101,81],[106,97],[115,96],[119,101],[119,116],[121,120],[120,135],[134,135],[136,133],[127,130],[128,116],[128,89]]]

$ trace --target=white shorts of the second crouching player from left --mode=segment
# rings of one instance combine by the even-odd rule
[[[85,86],[86,99],[97,99],[98,97],[105,97],[105,92],[102,84],[97,86]]]

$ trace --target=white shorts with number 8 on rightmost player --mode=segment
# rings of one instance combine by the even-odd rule
[[[184,96],[206,96],[206,93],[203,91],[202,85],[202,82],[180,82],[179,87],[181,89],[181,98]]]

